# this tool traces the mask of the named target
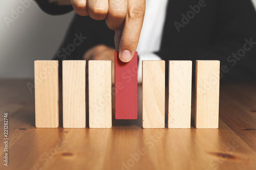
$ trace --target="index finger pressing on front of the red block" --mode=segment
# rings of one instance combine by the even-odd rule
[[[132,60],[140,37],[145,14],[145,0],[129,0],[119,44],[119,59],[123,62]]]

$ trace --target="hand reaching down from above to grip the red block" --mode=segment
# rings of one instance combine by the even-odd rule
[[[115,46],[120,60],[132,60],[144,19],[145,0],[71,0],[71,3],[81,16],[106,19],[108,27],[115,30]]]

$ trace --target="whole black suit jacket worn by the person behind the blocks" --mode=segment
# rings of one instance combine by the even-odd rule
[[[71,7],[41,3],[44,0],[36,1],[50,14],[62,14],[72,10]],[[168,2],[161,48],[156,52],[166,61],[166,69],[168,60],[192,60],[194,79],[196,60],[220,60],[221,82],[255,81],[256,13],[251,1],[202,2]],[[87,38],[76,46],[73,41],[79,36]],[[114,31],[106,26],[104,20],[97,21],[89,16],[75,15],[54,56],[54,59],[59,60],[60,71],[63,59],[79,60],[87,50],[97,44],[114,47]]]

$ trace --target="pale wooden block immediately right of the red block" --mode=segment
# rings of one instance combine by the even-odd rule
[[[164,128],[165,61],[142,61],[142,127]]]

